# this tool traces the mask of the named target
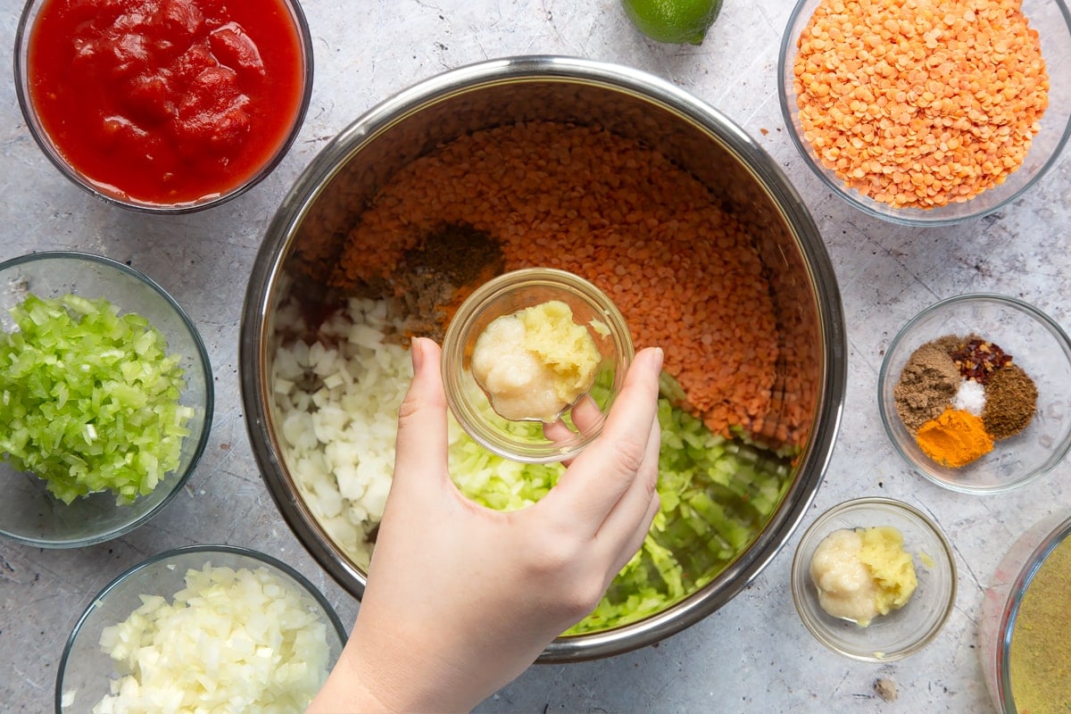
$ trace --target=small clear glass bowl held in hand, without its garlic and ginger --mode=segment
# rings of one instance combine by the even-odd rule
[[[493,320],[549,300],[570,306],[573,321],[587,328],[602,358],[595,383],[587,395],[598,407],[598,414],[594,419],[586,415],[582,431],[567,425],[572,414],[572,408],[567,408],[567,421],[556,424],[559,432],[553,435],[553,440],[544,435],[539,422],[510,422],[496,414],[471,371],[473,346]],[[629,326],[602,290],[565,271],[528,268],[489,280],[462,303],[442,340],[442,381],[450,410],[473,440],[515,461],[546,464],[573,458],[599,436],[633,356]]]

